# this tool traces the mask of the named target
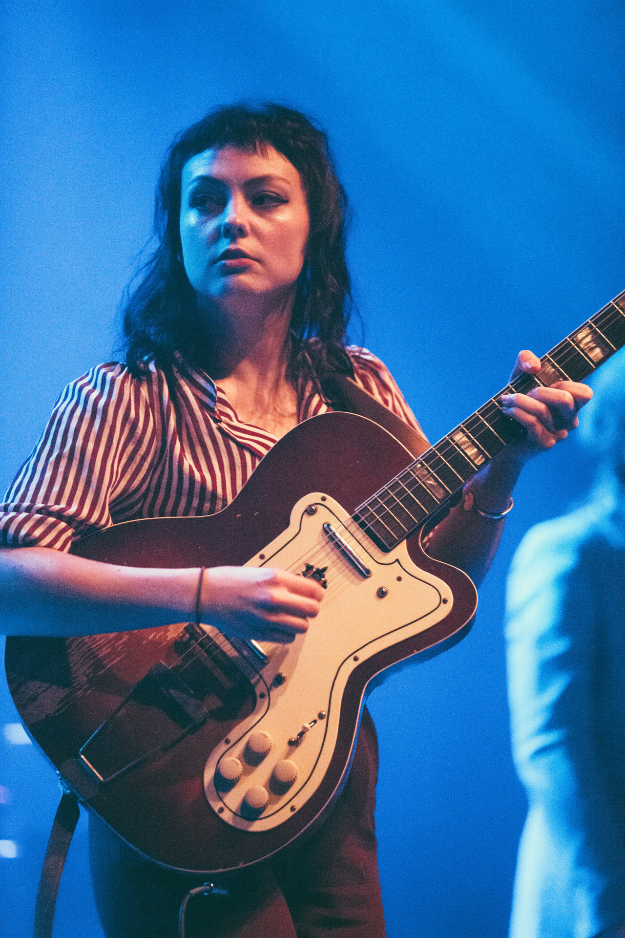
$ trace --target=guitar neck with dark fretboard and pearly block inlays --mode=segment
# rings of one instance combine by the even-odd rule
[[[367,499],[354,512],[354,521],[382,551],[393,550],[524,433],[516,420],[503,414],[502,394],[528,394],[534,387],[558,381],[584,381],[623,345],[625,291],[544,355],[537,374],[514,378]]]

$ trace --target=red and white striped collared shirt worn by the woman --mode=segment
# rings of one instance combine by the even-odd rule
[[[419,429],[388,369],[348,349],[357,384]],[[312,385],[297,417],[330,410]],[[0,505],[0,543],[68,551],[117,522],[205,515],[231,502],[275,437],[243,423],[215,382],[176,357],[171,377],[153,363],[136,378],[99,365],[68,385]]]

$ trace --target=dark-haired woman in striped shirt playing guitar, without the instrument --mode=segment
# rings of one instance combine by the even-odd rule
[[[132,628],[197,619],[229,636],[291,643],[315,628],[324,591],[308,577],[126,567],[69,549],[112,522],[225,507],[276,440],[331,409],[320,386],[328,375],[348,375],[418,429],[379,359],[345,344],[346,207],[325,134],[301,113],[221,108],[172,144],[157,248],[126,302],[126,363],[67,388],[2,506],[4,631],[73,636],[118,631],[120,617]],[[408,223],[394,204],[386,236]],[[525,351],[513,374],[539,369]],[[430,556],[482,581],[524,462],[567,436],[590,394],[562,381],[501,399],[527,432],[469,481],[428,536]],[[225,877],[228,897],[191,903],[187,933],[384,934],[366,712],[361,731],[329,819],[302,846]],[[201,881],[144,860],[97,818],[91,841],[107,936],[176,934],[180,901]]]

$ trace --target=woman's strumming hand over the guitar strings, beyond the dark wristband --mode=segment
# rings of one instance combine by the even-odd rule
[[[209,567],[200,619],[226,635],[290,643],[320,611],[318,582],[272,567]]]

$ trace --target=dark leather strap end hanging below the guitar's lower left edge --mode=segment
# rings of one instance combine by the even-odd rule
[[[39,877],[35,902],[34,938],[52,938],[54,908],[61,874],[65,866],[69,843],[80,816],[78,797],[73,792],[64,791],[54,815],[50,840],[48,840],[48,848]]]

